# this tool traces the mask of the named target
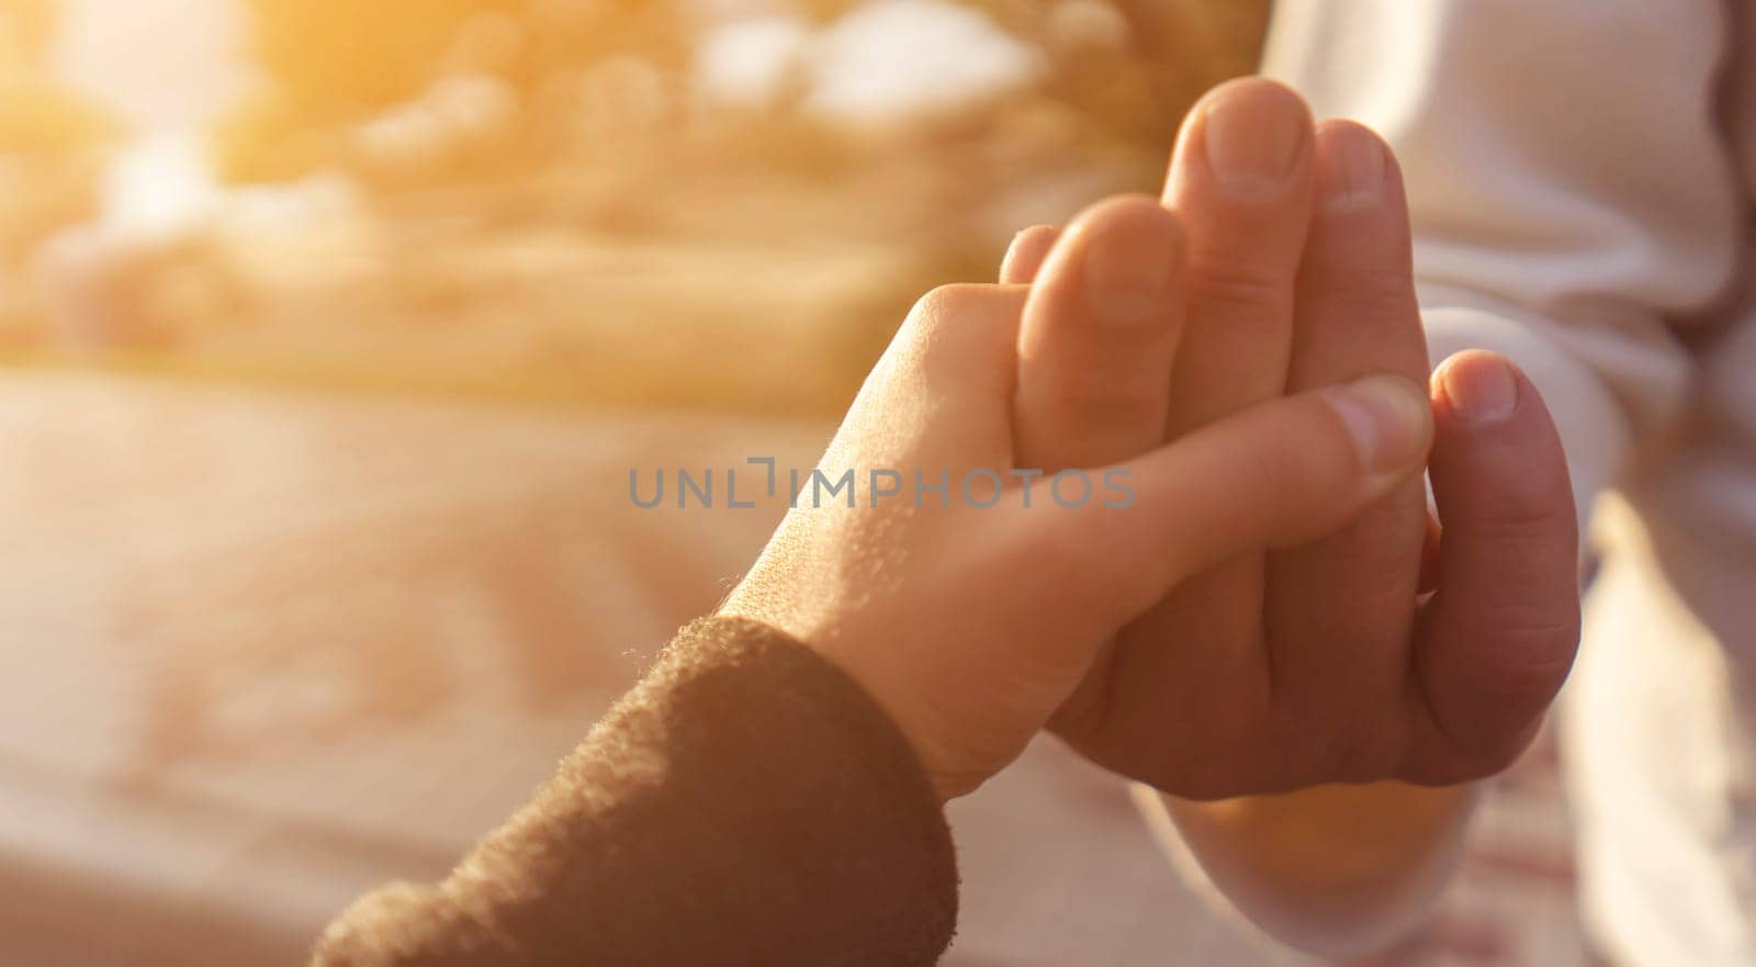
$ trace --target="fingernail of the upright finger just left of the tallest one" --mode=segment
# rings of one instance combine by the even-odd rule
[[[1182,235],[1171,218],[1115,218],[1085,240],[1085,304],[1110,323],[1140,323],[1164,312]]]

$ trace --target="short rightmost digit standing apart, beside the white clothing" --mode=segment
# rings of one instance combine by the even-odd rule
[[[1414,662],[1429,728],[1408,779],[1498,772],[1529,742],[1579,646],[1579,528],[1554,421],[1517,369],[1459,353],[1435,377],[1438,593]]]

